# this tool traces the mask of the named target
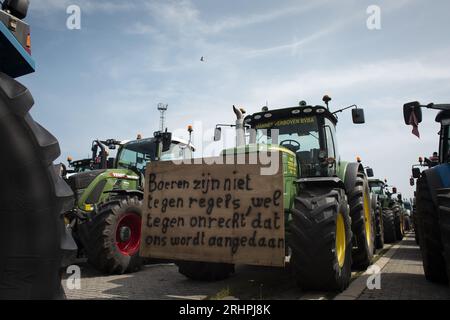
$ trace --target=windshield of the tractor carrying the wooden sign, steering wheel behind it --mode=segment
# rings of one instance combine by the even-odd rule
[[[302,177],[321,176],[317,122],[316,117],[303,117],[258,123],[255,126],[255,142],[257,144],[278,144],[294,152]],[[278,130],[278,135],[274,130]]]

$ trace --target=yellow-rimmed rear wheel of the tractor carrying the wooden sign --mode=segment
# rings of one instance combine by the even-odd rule
[[[375,247],[373,210],[370,206],[369,183],[358,173],[355,187],[349,192],[350,217],[354,237],[353,267],[365,270],[372,264]]]

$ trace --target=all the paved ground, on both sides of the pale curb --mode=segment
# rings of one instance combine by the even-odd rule
[[[388,247],[389,248],[389,247]],[[383,258],[384,259],[384,258]],[[302,292],[288,268],[238,266],[228,280],[205,283],[178,273],[173,264],[145,266],[128,275],[102,276],[80,263],[81,289],[68,290],[68,299],[332,299],[333,294]],[[356,274],[353,275],[357,277]],[[381,273],[381,290],[359,291],[359,299],[450,299],[450,289],[427,282],[420,251],[408,236],[388,260]],[[356,284],[357,281],[355,281]],[[362,294],[360,294],[362,292]]]

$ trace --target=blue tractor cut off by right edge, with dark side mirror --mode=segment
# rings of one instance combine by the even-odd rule
[[[417,179],[416,225],[422,251],[425,277],[433,282],[450,279],[450,104],[421,105],[407,103],[403,107],[405,123],[419,135],[422,109],[439,110],[436,122],[441,124],[439,152],[425,159],[428,169],[412,169],[413,184]]]

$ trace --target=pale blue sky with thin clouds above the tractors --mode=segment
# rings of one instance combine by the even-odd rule
[[[66,28],[70,4],[81,30]],[[366,26],[372,4],[381,30]],[[364,126],[340,116],[342,157],[361,156],[409,196],[411,164],[437,150],[438,125],[425,112],[415,138],[402,105],[450,101],[449,11],[446,0],[32,0],[37,72],[21,81],[61,159],[87,156],[93,138],[151,135],[159,102],[170,128],[207,129],[233,122],[233,104],[256,112],[329,94],[334,108],[366,111]]]

